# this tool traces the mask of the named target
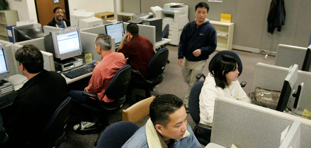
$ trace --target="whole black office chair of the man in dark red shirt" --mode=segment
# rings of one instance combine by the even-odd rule
[[[153,89],[153,87],[163,81],[163,71],[165,69],[167,59],[167,48],[162,48],[157,53],[155,53],[146,68],[148,77],[144,77],[138,70],[132,69],[132,75],[134,75],[136,79],[131,80],[131,86],[145,90],[145,97],[136,95],[137,97],[142,99],[150,97],[150,89]]]

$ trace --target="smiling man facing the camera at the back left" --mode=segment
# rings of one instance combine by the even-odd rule
[[[70,21],[64,19],[64,10],[62,8],[54,8],[53,13],[54,18],[46,24],[47,26],[53,26],[58,28],[66,28],[70,26]]]

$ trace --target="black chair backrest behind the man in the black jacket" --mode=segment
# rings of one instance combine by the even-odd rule
[[[67,97],[55,110],[53,116],[47,122],[45,128],[40,136],[41,139],[47,142],[61,143],[63,141],[62,136],[65,136],[65,127],[68,122],[68,118],[71,110],[71,98]],[[54,144],[54,143],[53,143]]]

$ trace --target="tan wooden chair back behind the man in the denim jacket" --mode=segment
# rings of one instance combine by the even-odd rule
[[[122,111],[122,120],[138,122],[149,115],[149,106],[155,96],[143,99]]]

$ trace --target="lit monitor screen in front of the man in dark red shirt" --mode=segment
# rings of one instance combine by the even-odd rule
[[[121,43],[124,34],[123,22],[105,25],[106,34],[115,38],[115,45]]]

